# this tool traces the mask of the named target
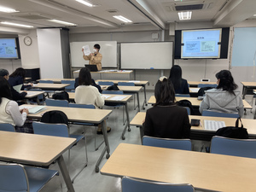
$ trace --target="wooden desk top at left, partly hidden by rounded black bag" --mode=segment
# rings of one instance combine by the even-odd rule
[[[22,105],[24,107],[33,105]],[[41,119],[42,115],[45,112],[51,110],[60,110],[67,114],[67,118],[69,121],[73,122],[83,122],[83,123],[94,123],[99,124],[102,122],[103,119],[112,113],[112,110],[106,109],[89,109],[89,108],[61,108],[61,107],[52,107],[52,106],[45,106],[45,108],[38,112],[38,113],[29,113],[27,115],[28,118],[35,118]]]

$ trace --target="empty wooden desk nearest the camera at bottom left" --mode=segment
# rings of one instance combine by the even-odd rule
[[[49,166],[57,160],[68,191],[74,191],[62,154],[74,138],[0,131],[0,160],[33,166]]]

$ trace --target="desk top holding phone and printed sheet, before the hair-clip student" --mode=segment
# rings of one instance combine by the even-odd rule
[[[143,120],[146,117],[146,112],[139,112],[135,115],[135,117],[131,120],[130,125],[143,126]],[[201,119],[200,126],[191,126],[191,129],[197,131],[208,131],[204,128],[204,120],[218,120],[224,121],[226,126],[235,126],[236,119],[235,118],[219,118],[219,117],[207,117],[200,115],[189,115],[189,119]],[[247,128],[247,132],[249,135],[256,135],[256,119],[241,119],[242,125],[244,128]]]

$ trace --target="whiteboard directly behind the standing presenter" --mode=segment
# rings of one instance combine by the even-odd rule
[[[89,64],[83,58],[82,47],[89,45],[90,51],[93,45],[100,44],[102,54],[102,67],[117,67],[117,42],[116,41],[91,41],[91,42],[72,42],[70,43],[70,55],[72,67],[84,67]]]

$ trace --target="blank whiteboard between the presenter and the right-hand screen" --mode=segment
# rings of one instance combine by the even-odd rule
[[[173,42],[122,43],[122,69],[170,69]]]

